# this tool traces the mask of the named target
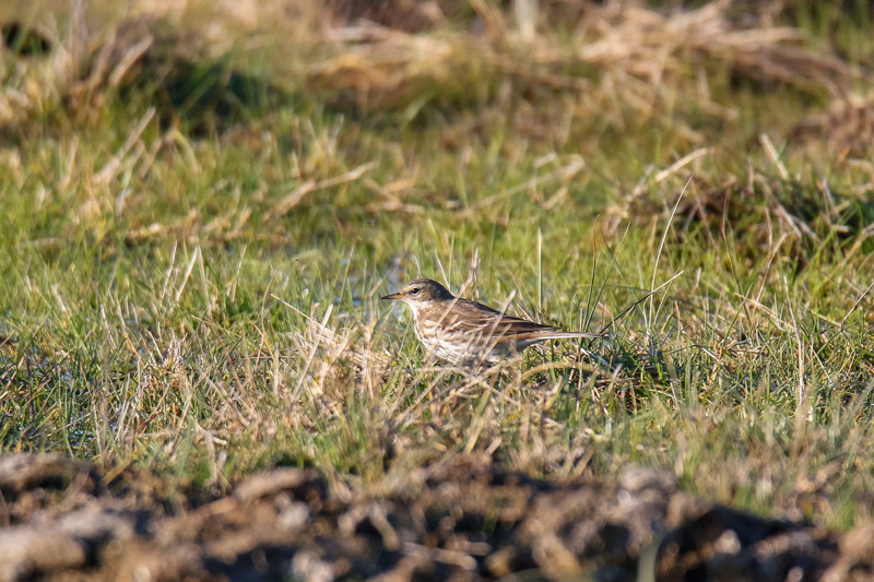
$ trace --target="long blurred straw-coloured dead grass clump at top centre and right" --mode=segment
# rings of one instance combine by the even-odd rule
[[[575,92],[588,111],[611,111],[618,100],[643,120],[675,103],[684,80],[694,80],[687,91],[698,93],[705,110],[733,119],[732,107],[709,94],[708,68],[832,95],[846,93],[857,75],[841,60],[805,47],[798,28],[733,19],[729,1],[671,12],[582,2],[569,38],[552,32],[524,37],[492,2],[473,5],[485,34],[411,34],[371,22],[327,28],[333,55],[304,74],[321,88],[353,90],[358,104],[374,107],[406,107],[423,88],[506,76],[522,87]]]

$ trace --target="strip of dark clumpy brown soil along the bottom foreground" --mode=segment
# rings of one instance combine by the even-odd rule
[[[310,468],[205,498],[162,497],[156,483],[0,456],[0,581],[874,579],[874,523],[767,520],[647,468],[545,480],[460,455],[367,497],[331,495]]]

